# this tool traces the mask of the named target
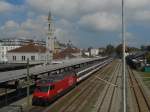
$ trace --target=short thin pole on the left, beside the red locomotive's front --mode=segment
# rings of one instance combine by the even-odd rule
[[[29,58],[27,59],[27,107],[30,106],[30,76],[29,76]]]

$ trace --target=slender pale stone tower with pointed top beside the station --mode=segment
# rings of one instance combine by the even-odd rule
[[[47,48],[47,63],[53,59],[54,52],[54,23],[51,16],[51,12],[48,14],[48,34],[46,39],[46,48]]]

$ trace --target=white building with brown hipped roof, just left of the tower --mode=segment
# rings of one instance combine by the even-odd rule
[[[33,43],[8,51],[8,63],[45,63],[46,47]]]

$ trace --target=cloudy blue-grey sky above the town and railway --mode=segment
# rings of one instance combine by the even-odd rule
[[[127,45],[150,44],[149,6],[149,0],[125,0]],[[121,43],[121,0],[0,0],[0,39],[46,40],[49,11],[61,42],[80,48]]]

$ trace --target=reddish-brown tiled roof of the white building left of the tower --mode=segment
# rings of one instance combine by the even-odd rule
[[[33,43],[8,51],[9,53],[45,53],[46,47],[35,45]]]

